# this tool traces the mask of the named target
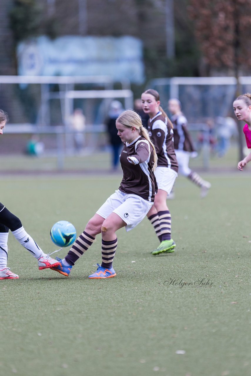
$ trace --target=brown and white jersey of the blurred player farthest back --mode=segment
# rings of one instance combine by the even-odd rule
[[[187,130],[187,119],[180,112],[171,117],[173,123],[173,140],[175,150],[184,150],[185,152],[194,152],[192,138]]]

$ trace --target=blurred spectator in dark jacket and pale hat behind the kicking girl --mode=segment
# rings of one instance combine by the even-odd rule
[[[112,168],[117,170],[119,164],[119,154],[122,147],[122,141],[118,136],[118,131],[116,128],[116,119],[123,112],[122,103],[118,100],[113,100],[110,105],[110,110],[108,112],[108,117],[106,119],[106,129],[109,135],[109,141],[112,147]]]

